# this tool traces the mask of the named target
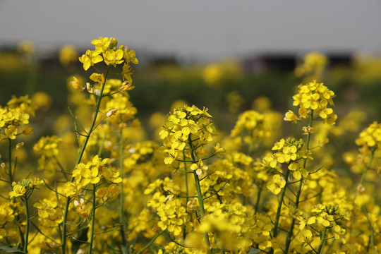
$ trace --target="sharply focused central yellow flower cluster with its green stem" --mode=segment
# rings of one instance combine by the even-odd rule
[[[195,179],[195,189],[199,211],[196,212],[200,222],[205,217],[204,200],[200,187],[200,176],[206,176],[208,167],[204,164],[205,159],[213,155],[204,155],[204,147],[212,141],[215,128],[210,121],[210,114],[207,109],[198,109],[197,107],[184,106],[169,115],[164,128],[159,133],[164,139],[164,152],[167,157],[164,159],[166,164],[171,164],[179,168],[180,163],[184,163],[185,174],[193,174]],[[181,155],[184,155],[181,158]],[[204,155],[204,158],[201,158]],[[187,164],[191,166],[187,169]],[[191,201],[189,201],[191,202]],[[210,239],[207,232],[204,233],[204,239],[207,246],[210,246]]]

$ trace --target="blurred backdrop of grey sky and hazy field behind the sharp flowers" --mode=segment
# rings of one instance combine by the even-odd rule
[[[78,56],[102,36],[136,52],[131,102],[143,123],[182,99],[230,130],[244,110],[291,109],[296,86],[312,78],[337,94],[338,114],[356,108],[373,121],[380,13],[379,0],[0,0],[0,104],[44,92],[54,114],[67,111],[68,80],[90,75]],[[309,52],[327,59],[318,75],[299,68]]]

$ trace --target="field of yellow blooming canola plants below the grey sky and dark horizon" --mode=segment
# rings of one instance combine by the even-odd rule
[[[229,64],[203,68],[193,89],[144,91],[138,52],[115,38],[89,45],[79,57],[61,49],[64,110],[46,91],[0,105],[0,253],[380,253],[379,99],[357,104],[349,89],[346,102],[329,84],[351,74],[377,98],[377,68],[327,78],[327,57],[311,52],[292,87],[248,102],[244,85],[218,92],[242,78]],[[32,82],[32,45],[22,46],[27,63],[3,55],[0,66],[27,68]],[[193,71],[160,70],[183,85]],[[215,97],[138,118],[134,95],[162,109],[176,89]]]

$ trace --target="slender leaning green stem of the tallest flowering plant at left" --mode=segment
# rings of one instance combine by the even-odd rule
[[[85,148],[86,148],[87,142],[90,140],[90,135],[91,135],[92,131],[94,131],[95,122],[97,121],[97,116],[98,116],[100,104],[101,104],[101,101],[102,101],[104,84],[107,81],[107,76],[109,75],[109,70],[110,70],[110,66],[107,68],[106,75],[104,75],[104,80],[105,81],[102,84],[101,90],[99,92],[99,96],[98,96],[98,100],[97,100],[97,105],[95,107],[95,114],[92,117],[92,122],[91,122],[91,125],[90,125],[90,128],[89,128],[89,131],[87,131],[87,135],[86,135],[85,141],[83,142],[83,145],[80,148],[80,153],[78,155],[77,161],[75,162],[75,167],[80,163],[80,160],[82,159],[83,154],[85,152]],[[73,182],[73,181],[74,181],[74,178],[71,177],[71,182]],[[62,253],[61,254],[65,254],[66,253],[66,240],[67,240],[66,239],[66,221],[67,221],[67,218],[68,218],[68,207],[69,207],[70,202],[71,202],[70,197],[66,197],[65,212],[63,213],[63,221],[62,221],[62,236],[61,236],[61,244],[62,244],[61,250],[62,250]]]

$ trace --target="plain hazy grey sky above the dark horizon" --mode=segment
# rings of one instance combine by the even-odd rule
[[[203,59],[255,52],[381,52],[381,0],[0,0],[0,45],[99,37]]]

